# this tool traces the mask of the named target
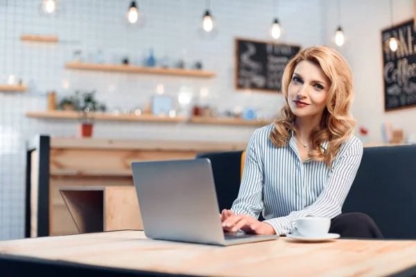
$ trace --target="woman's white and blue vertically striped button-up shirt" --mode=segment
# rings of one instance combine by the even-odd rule
[[[288,145],[270,141],[274,123],[254,131],[245,154],[239,195],[231,210],[264,221],[276,233],[293,232],[299,217],[336,217],[341,213],[363,157],[363,143],[351,136],[329,169],[324,161],[302,161],[291,132]],[[326,150],[328,143],[322,143]]]

